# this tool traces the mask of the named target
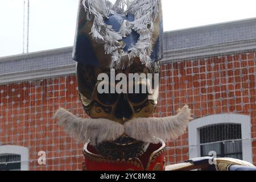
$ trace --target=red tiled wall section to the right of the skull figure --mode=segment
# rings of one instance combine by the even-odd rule
[[[212,114],[237,113],[251,117],[251,138],[256,138],[256,53],[210,57],[162,65],[158,116],[175,114],[188,104],[194,118]],[[170,163],[187,160],[188,133],[168,142]],[[256,141],[253,141],[256,163]]]

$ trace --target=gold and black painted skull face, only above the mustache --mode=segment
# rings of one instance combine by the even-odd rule
[[[97,91],[97,76],[100,73],[110,74],[109,68],[97,68],[89,65],[77,64],[77,80],[79,82],[79,95],[82,106],[91,118],[106,118],[118,123],[125,123],[133,118],[150,117],[154,113],[157,100],[148,100],[148,93],[103,93]],[[160,73],[159,63],[154,63],[152,68],[144,67],[139,61],[127,69],[117,70],[117,73]],[[154,78],[153,78],[154,80]],[[138,83],[133,85],[134,88]],[[140,82],[140,90],[145,83]],[[109,87],[114,87],[109,82]]]

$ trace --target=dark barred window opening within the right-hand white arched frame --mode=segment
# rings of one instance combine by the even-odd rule
[[[200,129],[201,156],[216,151],[217,158],[242,160],[241,124],[223,123]]]

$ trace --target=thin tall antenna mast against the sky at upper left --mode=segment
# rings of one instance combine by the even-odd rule
[[[30,29],[30,0],[23,3],[23,53],[28,53]]]

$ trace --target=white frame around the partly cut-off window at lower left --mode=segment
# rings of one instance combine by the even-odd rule
[[[23,146],[0,146],[0,154],[17,154],[20,155],[20,171],[29,170],[28,149]]]

